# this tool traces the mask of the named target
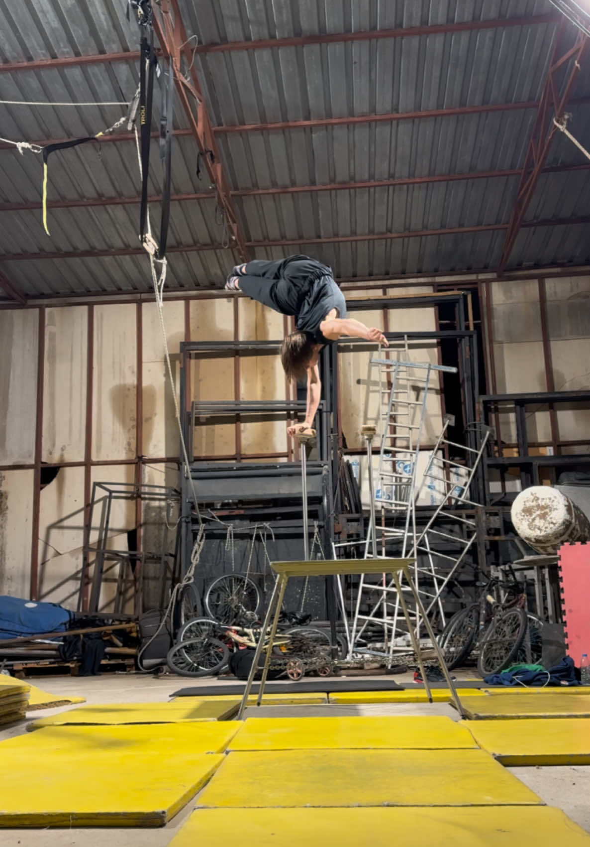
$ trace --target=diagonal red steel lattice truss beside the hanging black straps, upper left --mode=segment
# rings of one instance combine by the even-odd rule
[[[168,53],[170,62],[174,65],[174,84],[179,95],[181,106],[189,120],[190,129],[196,138],[196,143],[201,152],[203,163],[209,174],[212,186],[218,197],[218,204],[225,214],[230,246],[234,248],[242,262],[247,261],[248,251],[238,219],[234,211],[234,204],[229,193],[229,182],[223,172],[221,155],[217,141],[213,135],[213,126],[201,85],[196,75],[193,64],[193,56],[190,50],[190,42],[185,25],[180,14],[178,0],[161,0],[161,18],[157,14],[153,16],[154,31],[160,46]],[[185,75],[181,66],[181,55],[184,53],[189,72]],[[189,79],[190,74],[190,79]],[[194,106],[196,105],[196,112]]]

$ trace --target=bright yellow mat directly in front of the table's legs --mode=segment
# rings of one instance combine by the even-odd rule
[[[249,717],[229,750],[411,749],[477,747],[450,717]]]

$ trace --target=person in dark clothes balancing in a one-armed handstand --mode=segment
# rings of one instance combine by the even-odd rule
[[[275,262],[254,259],[236,265],[225,288],[243,291],[275,312],[295,317],[295,332],[281,345],[281,363],[288,379],[307,377],[307,407],[305,421],[289,427],[289,435],[313,426],[322,393],[317,361],[323,346],[341,335],[389,346],[381,329],[346,317],[345,296],[334,281],[332,268],[309,256],[288,256]]]

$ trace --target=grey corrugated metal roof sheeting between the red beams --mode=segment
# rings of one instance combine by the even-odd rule
[[[373,114],[460,108],[489,103],[534,102],[543,89],[554,41],[553,23],[534,16],[555,13],[549,0],[179,0],[187,34],[202,46],[326,33],[389,30],[482,19],[528,17],[527,25],[453,33],[256,50],[198,52],[195,67],[212,122],[218,126],[278,121],[349,118]],[[135,51],[139,30],[127,21],[119,0],[40,0],[5,9],[3,63],[96,53]],[[556,14],[556,13],[555,13]],[[573,28],[571,29],[571,34]],[[0,99],[105,102],[130,99],[138,80],[136,60],[25,69],[0,73]],[[572,97],[590,96],[587,74]],[[156,98],[157,99],[157,98]],[[155,103],[154,130],[159,102]],[[588,144],[590,106],[570,108],[571,131]],[[79,137],[120,117],[122,107],[0,106],[2,135],[14,140]],[[355,125],[264,129],[217,134],[223,169],[232,191],[332,185],[469,174],[521,168],[535,108],[433,118],[385,120]],[[174,128],[189,126],[174,103]],[[585,163],[576,147],[558,134],[547,164]],[[209,191],[196,175],[197,147],[191,136],[174,138],[172,191]],[[201,169],[202,170],[202,169]],[[0,151],[0,202],[38,204],[39,156]],[[159,194],[162,173],[152,145],[150,192]],[[507,224],[517,175],[417,185],[235,196],[245,241],[292,241],[256,246],[256,257],[306,252],[320,257],[343,278],[394,274],[449,273],[495,268],[505,230],[369,241],[310,243],[309,240],[407,231]],[[526,221],[587,215],[590,172],[543,174]],[[52,156],[50,201],[136,198],[140,191],[134,141],[86,145]],[[172,252],[168,282],[174,287],[223,284],[236,257],[223,243],[223,225],[213,199],[171,205],[168,244],[207,246]],[[159,208],[153,208],[154,228]],[[88,252],[137,248],[139,206],[88,205],[50,208],[51,237],[41,211],[0,212],[0,269],[29,296],[92,291],[147,291],[146,257],[19,258],[15,253]],[[585,263],[584,224],[521,231],[510,267],[523,264]],[[300,240],[301,241],[298,241]]]

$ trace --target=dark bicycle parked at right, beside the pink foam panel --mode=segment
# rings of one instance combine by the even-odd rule
[[[533,639],[533,634],[539,636],[543,623],[527,612],[526,592],[514,575],[511,580],[494,578],[479,585],[484,588],[479,599],[456,612],[440,636],[449,670],[466,662],[472,650],[478,651],[477,671],[482,678],[500,673],[516,659],[527,661],[527,653],[533,658],[533,642],[534,657],[540,658],[541,639]],[[505,591],[502,601],[490,594],[494,588]],[[527,632],[529,641],[525,645]]]

